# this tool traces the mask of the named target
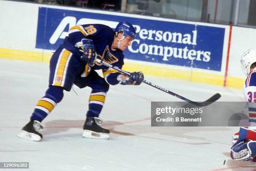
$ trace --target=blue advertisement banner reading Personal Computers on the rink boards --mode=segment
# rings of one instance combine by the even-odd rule
[[[74,25],[100,23],[114,29],[122,20],[137,32],[125,58],[221,71],[221,27],[39,7],[36,48],[56,50]]]

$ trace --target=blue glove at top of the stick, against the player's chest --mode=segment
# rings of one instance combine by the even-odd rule
[[[91,67],[94,66],[97,53],[96,47],[90,39],[82,39],[84,53],[81,60],[87,62]]]

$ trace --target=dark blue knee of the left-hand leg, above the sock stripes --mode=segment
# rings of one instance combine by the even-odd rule
[[[45,93],[45,97],[52,99],[56,103],[59,103],[63,99],[63,96],[63,88],[58,86],[50,86]]]

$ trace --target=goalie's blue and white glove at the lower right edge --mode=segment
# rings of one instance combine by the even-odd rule
[[[231,147],[230,156],[234,160],[256,161],[256,141],[240,140]]]

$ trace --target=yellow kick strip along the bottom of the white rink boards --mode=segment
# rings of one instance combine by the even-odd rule
[[[47,62],[51,58],[51,53],[33,52],[25,50],[12,50],[0,48],[0,58],[2,59],[15,59],[34,62]],[[208,74],[204,72],[185,71],[182,69],[171,69],[156,66],[147,66],[143,64],[134,64],[126,62],[123,66],[123,70],[128,72],[142,71],[144,75],[150,75],[155,77],[163,77],[168,79],[181,79],[185,81],[199,82],[205,84],[213,84],[223,86],[224,76],[218,74]],[[190,78],[191,77],[191,78]],[[227,77],[227,87],[242,89],[245,79],[238,77]]]

